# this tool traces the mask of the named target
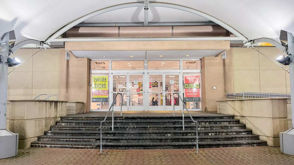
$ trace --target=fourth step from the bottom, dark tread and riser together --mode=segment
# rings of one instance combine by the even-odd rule
[[[196,130],[196,125],[185,125],[185,130]],[[199,125],[198,130],[216,129],[245,129],[245,124],[206,124]],[[100,130],[100,126],[94,125],[54,125],[51,130],[72,130],[72,131],[95,131]],[[110,131],[111,126],[102,126],[102,130]],[[183,125],[115,125],[113,130],[136,131],[136,130],[183,130]]]

